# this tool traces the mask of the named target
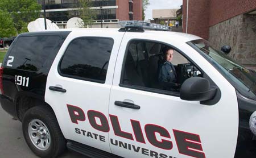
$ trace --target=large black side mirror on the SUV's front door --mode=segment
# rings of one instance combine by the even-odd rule
[[[216,87],[202,77],[191,77],[183,82],[180,88],[180,98],[186,101],[208,101],[213,99],[217,92]]]

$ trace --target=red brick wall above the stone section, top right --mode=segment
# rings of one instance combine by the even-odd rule
[[[209,38],[209,27],[256,9],[256,0],[189,0],[188,33]],[[187,0],[183,0],[183,32],[186,31]]]

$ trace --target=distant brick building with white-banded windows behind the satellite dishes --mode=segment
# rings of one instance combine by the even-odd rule
[[[55,22],[60,28],[65,28],[68,19],[79,17],[76,3],[79,0],[38,0],[46,4],[46,18]],[[92,0],[92,9],[96,10],[96,19],[92,27],[118,27],[119,20],[142,20],[142,0]]]

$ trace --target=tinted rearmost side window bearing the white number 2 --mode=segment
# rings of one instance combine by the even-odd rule
[[[50,53],[56,54],[59,45],[59,36],[29,36],[20,37],[11,50],[6,66],[15,69],[30,70],[37,72],[44,66],[47,66],[47,59]]]

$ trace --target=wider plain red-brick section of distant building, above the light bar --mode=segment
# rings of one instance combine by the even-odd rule
[[[129,20],[129,0],[117,0],[117,19]]]

